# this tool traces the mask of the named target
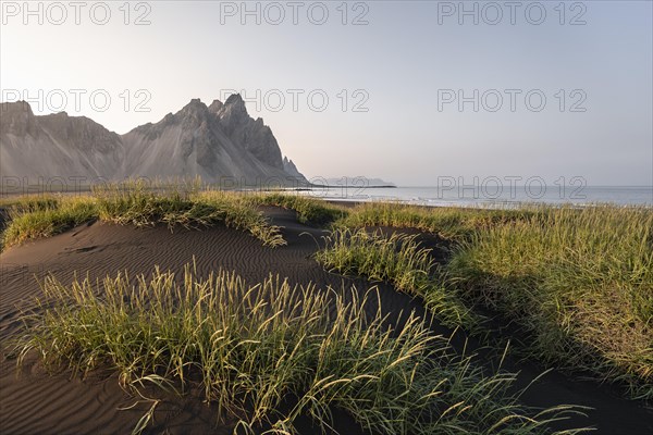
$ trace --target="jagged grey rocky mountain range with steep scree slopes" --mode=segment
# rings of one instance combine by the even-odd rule
[[[282,156],[270,127],[249,116],[239,95],[210,105],[190,100],[124,135],[65,112],[35,115],[25,101],[0,103],[0,174],[30,184],[54,177],[90,184],[200,176],[234,187],[308,185]]]

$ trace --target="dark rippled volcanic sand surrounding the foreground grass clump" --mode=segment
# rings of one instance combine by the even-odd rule
[[[288,245],[270,249],[254,237],[215,227],[200,232],[167,227],[137,229],[94,223],[65,234],[15,247],[0,254],[0,433],[2,434],[110,434],[130,433],[149,408],[141,403],[132,410],[136,399],[127,396],[115,376],[94,375],[88,380],[70,380],[67,374],[48,375],[34,359],[27,361],[16,376],[15,360],[7,359],[7,338],[16,332],[16,304],[39,296],[34,278],[52,272],[63,283],[70,283],[74,271],[89,272],[91,278],[115,275],[127,270],[131,276],[151,273],[153,265],[182,273],[185,263],[196,258],[198,273],[224,268],[235,270],[249,283],[266,278],[270,272],[291,283],[316,283],[318,287],[346,288],[356,285],[364,294],[372,285],[364,279],[350,279],[325,272],[310,254],[318,248],[322,231],[297,223],[295,213],[268,208],[274,224],[284,227]],[[301,233],[310,235],[301,235]],[[418,300],[379,285],[382,307],[397,320],[401,312],[415,311],[426,315]],[[23,302],[24,303],[24,302]],[[373,309],[373,307],[370,307]],[[435,328],[439,328],[435,326]],[[448,331],[439,328],[448,334]],[[463,338],[454,340],[460,344]],[[473,346],[473,341],[471,343]],[[484,357],[483,361],[490,361]],[[489,362],[491,364],[491,362]],[[504,365],[506,366],[506,365]],[[529,364],[508,362],[510,371],[520,371],[519,384],[528,383],[542,372]],[[574,381],[549,373],[523,396],[527,405],[546,407],[576,403],[595,408],[589,418],[579,418],[562,427],[594,426],[594,433],[653,434],[653,410],[639,402],[618,397],[614,388],[591,382]],[[301,422],[304,434],[315,431]],[[343,435],[361,433],[346,415],[338,415],[336,428]],[[214,426],[214,409],[200,400],[187,398],[164,401],[158,407],[155,424],[146,433],[231,434],[232,427]]]

